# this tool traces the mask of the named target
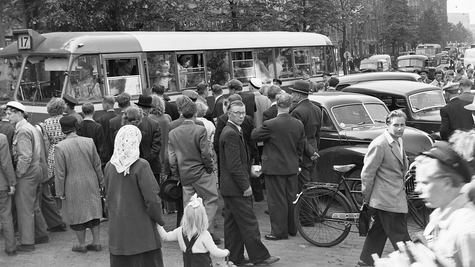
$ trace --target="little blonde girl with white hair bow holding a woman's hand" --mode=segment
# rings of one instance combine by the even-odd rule
[[[183,251],[184,267],[213,266],[211,253],[215,257],[226,257],[228,249],[218,248],[208,232],[208,216],[203,206],[203,200],[195,193],[190,203],[183,211],[180,227],[171,232],[165,231],[157,224],[158,233],[162,241],[178,241]]]

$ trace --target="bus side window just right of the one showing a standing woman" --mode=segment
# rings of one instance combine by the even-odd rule
[[[207,83],[212,85],[227,86],[231,80],[229,69],[229,51],[206,51],[206,70],[208,71]]]

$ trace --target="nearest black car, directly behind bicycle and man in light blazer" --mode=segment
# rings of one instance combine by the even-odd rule
[[[350,176],[359,178],[368,145],[388,128],[388,107],[376,97],[344,92],[316,93],[309,99],[322,109],[317,181],[337,183],[332,166],[344,164],[356,164]],[[410,162],[434,144],[430,135],[411,127],[402,140]],[[354,190],[359,186],[355,183]]]

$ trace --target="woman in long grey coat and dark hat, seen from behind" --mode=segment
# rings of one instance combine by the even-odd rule
[[[63,221],[76,231],[79,245],[75,252],[101,251],[99,242],[102,204],[99,188],[104,187],[101,160],[91,138],[76,134],[80,129],[76,117],[59,120],[66,139],[56,145],[56,194],[63,200]],[[91,229],[92,244],[85,245],[86,228]]]

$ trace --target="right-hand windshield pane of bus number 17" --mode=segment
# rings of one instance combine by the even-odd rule
[[[61,97],[68,61],[66,56],[27,57],[17,92],[18,100],[47,103],[52,97]]]

